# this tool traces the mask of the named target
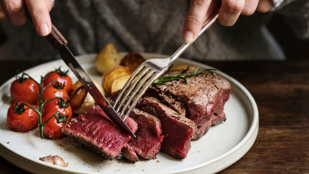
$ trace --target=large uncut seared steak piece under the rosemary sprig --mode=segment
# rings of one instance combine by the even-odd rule
[[[169,71],[174,75],[180,70]],[[191,71],[188,71],[189,73]],[[165,85],[154,85],[167,96],[186,106],[186,117],[197,124],[197,132],[193,139],[201,138],[210,128],[226,120],[223,112],[224,104],[230,98],[230,83],[218,75],[202,73],[184,80],[171,80]],[[212,123],[213,122],[213,123]]]

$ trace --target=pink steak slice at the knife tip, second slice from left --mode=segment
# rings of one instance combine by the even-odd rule
[[[135,120],[138,128],[135,132],[136,138],[131,138],[126,148],[122,150],[124,156],[130,161],[136,160],[134,154],[129,153],[130,150],[133,150],[142,158],[156,159],[164,137],[162,135],[161,121],[154,115],[136,108],[132,110],[129,116]]]

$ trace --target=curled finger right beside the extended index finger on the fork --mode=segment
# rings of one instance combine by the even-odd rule
[[[245,0],[222,0],[218,17],[221,25],[234,25],[244,8],[244,5]]]

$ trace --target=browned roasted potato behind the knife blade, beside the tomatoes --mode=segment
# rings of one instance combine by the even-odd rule
[[[102,86],[97,81],[93,81],[93,83],[97,86],[99,91],[103,95],[105,95],[105,92]],[[71,96],[70,96],[70,105],[72,107],[73,112],[76,114],[83,114],[90,108],[90,106],[94,104],[95,104],[95,100],[83,87],[82,83],[80,81],[77,81],[73,85]]]

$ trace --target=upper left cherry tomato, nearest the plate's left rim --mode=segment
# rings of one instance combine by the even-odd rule
[[[39,98],[39,85],[32,79],[20,77],[14,80],[10,87],[13,103],[23,101],[29,104],[37,104]]]

